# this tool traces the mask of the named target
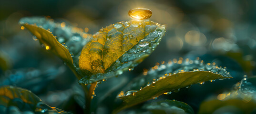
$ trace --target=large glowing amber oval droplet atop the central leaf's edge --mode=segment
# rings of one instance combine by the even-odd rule
[[[129,16],[135,20],[145,20],[149,19],[152,16],[152,11],[145,8],[135,8],[129,10]]]

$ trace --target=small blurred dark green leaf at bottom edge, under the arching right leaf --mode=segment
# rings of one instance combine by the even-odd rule
[[[176,100],[164,100],[143,104],[143,109],[153,114],[194,114],[194,110],[188,104]]]

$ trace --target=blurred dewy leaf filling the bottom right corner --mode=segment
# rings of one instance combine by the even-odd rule
[[[232,88],[217,97],[207,99],[200,104],[199,114],[255,114],[256,113],[256,77],[245,76]]]

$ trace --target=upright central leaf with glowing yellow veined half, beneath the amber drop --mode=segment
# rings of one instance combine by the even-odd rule
[[[117,22],[102,28],[82,49],[79,66],[90,84],[118,76],[148,57],[164,36],[165,26],[148,21]]]

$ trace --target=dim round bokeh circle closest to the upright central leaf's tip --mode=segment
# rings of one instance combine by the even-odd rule
[[[166,46],[172,51],[179,51],[183,47],[183,41],[179,37],[168,38],[166,41]]]

